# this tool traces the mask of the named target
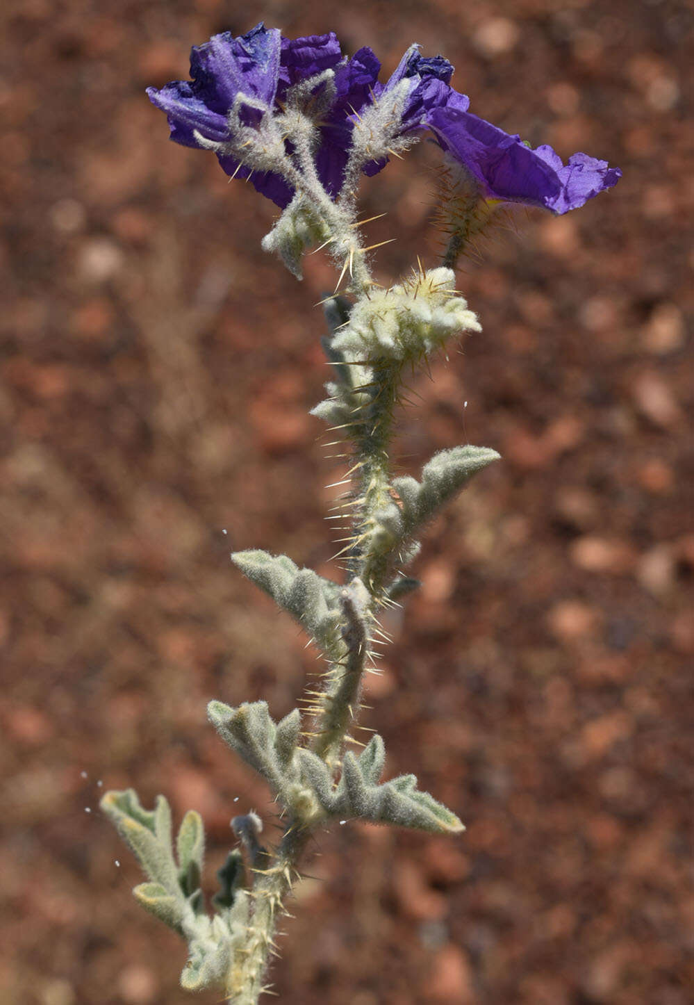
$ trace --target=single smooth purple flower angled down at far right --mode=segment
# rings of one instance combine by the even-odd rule
[[[619,168],[587,154],[563,164],[551,147],[531,150],[484,119],[452,105],[427,116],[439,144],[477,179],[485,199],[544,206],[566,213],[622,177]]]

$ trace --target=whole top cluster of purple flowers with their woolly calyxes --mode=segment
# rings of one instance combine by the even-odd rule
[[[343,56],[334,33],[289,39],[260,23],[246,35],[213,35],[191,51],[192,80],[150,87],[171,139],[212,149],[224,171],[250,178],[286,207],[310,170],[332,200],[355,174],[381,171],[389,153],[430,130],[446,158],[472,182],[476,199],[565,213],[612,188],[622,172],[586,154],[567,164],[551,147],[531,150],[468,112],[450,85],[453,66],[411,46],[387,83],[362,48]],[[302,171],[297,161],[303,152]]]

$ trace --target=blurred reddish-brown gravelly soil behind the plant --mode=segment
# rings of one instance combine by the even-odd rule
[[[484,332],[415,381],[401,469],[468,441],[503,461],[430,528],[364,722],[388,771],[468,829],[321,836],[280,1000],[686,1005],[691,4],[10,0],[0,17],[2,1002],[190,1000],[99,793],[198,809],[212,886],[232,813],[267,806],[205,703],[279,717],[316,669],[228,551],[330,569],[340,468],[306,414],[330,268],[315,255],[297,283],[265,255],[273,207],[170,144],[144,94],[187,75],[191,43],[263,17],[372,45],[385,72],[413,40],[443,51],[474,111],[625,173],[568,216],[517,213],[461,269]],[[398,237],[382,281],[437,261],[435,160],[422,144],[365,182],[366,215],[388,213],[370,240]]]

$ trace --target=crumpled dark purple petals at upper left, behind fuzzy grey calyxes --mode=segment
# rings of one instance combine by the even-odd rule
[[[229,115],[235,105],[244,125],[257,125],[262,106],[281,113],[290,87],[326,69],[334,71],[334,97],[320,117],[314,158],[320,181],[336,198],[350,157],[356,117],[398,81],[412,78],[400,132],[421,127],[425,114],[443,104],[450,92],[448,80],[453,67],[442,56],[423,58],[413,47],[383,85],[378,82],[381,63],[370,48],[362,48],[348,59],[341,55],[333,32],[288,39],[278,29],[268,30],[260,23],[238,38],[226,31],[194,46],[192,79],[174,80],[160,90],[150,87],[148,95],[166,112],[172,140],[186,147],[214,149],[215,144],[228,144],[232,139]],[[246,104],[244,97],[248,98]],[[287,152],[291,153],[290,147]],[[281,174],[253,171],[224,151],[217,156],[228,175],[250,178],[255,188],[278,206],[283,208],[291,200],[293,189]],[[385,164],[385,159],[373,161],[364,170],[376,174]]]

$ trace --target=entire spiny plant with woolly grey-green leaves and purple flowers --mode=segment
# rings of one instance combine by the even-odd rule
[[[307,690],[302,711],[279,721],[265,701],[237,707],[211,701],[208,717],[222,740],[267,783],[280,810],[282,836],[265,846],[262,821],[250,811],[232,820],[240,847],[218,871],[208,914],[201,889],[205,835],[195,811],[176,841],[171,811],[158,797],[144,809],[136,793],[107,792],[104,813],[148,877],[138,900],[188,944],[181,976],[194,991],[222,989],[235,1005],[256,1005],[268,990],[278,919],[300,875],[311,836],[334,820],[361,819],[430,833],[460,833],[458,817],[418,789],[414,775],[383,781],[386,750],[375,735],[360,753],[352,737],[364,674],[374,668],[382,610],[416,589],[403,569],[419,550],[432,517],[469,480],[498,459],[468,444],[436,453],[420,479],[394,476],[393,431],[403,375],[452,339],[480,331],[455,288],[462,251],[501,203],[561,213],[612,187],[619,169],[584,154],[566,166],[550,148],[531,151],[517,137],[471,116],[468,98],[450,86],[452,65],[411,46],[389,80],[379,82],[371,49],[342,56],[333,33],[282,38],[257,25],[194,47],[190,81],[157,90],[171,139],[213,151],[223,170],[247,178],[281,210],[262,241],[298,278],[309,248],[324,247],[337,271],[324,303],[322,339],[331,368],[327,397],[311,414],[344,440],[352,488],[338,506],[348,527],[335,559],[342,582],[299,568],[287,556],[246,550],[233,564],[306,631],[325,660],[322,686]],[[364,246],[357,193],[363,175],[386,167],[430,130],[445,151],[447,179],[439,218],[449,234],[443,264],[418,267],[382,285]],[[367,221],[368,222],[368,221]],[[346,296],[336,290],[343,288]],[[345,479],[345,480],[346,480]]]

